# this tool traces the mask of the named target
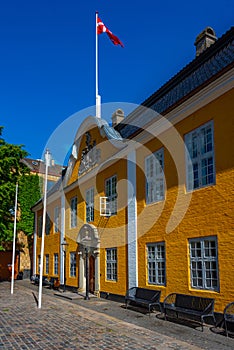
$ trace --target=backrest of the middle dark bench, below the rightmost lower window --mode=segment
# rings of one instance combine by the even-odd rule
[[[186,294],[176,294],[175,306],[196,311],[204,311],[208,306],[214,305],[214,299],[197,297]]]

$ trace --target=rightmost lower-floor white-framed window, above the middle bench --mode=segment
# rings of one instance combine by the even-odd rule
[[[191,286],[218,290],[218,259],[216,237],[189,240]]]

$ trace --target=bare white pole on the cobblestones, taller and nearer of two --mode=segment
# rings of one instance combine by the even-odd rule
[[[42,234],[41,234],[41,266],[40,266],[40,280],[39,280],[39,293],[38,293],[38,308],[41,308],[42,298],[42,275],[43,275],[43,263],[44,263],[44,241],[45,241],[45,224],[46,224],[46,200],[47,200],[47,178],[48,167],[51,162],[51,153],[46,149],[45,153],[45,184],[44,184],[44,201],[43,201],[43,220],[42,220]]]

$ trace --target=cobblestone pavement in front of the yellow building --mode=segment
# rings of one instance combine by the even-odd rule
[[[62,296],[70,297],[72,293]],[[228,350],[234,339],[164,321],[104,299],[59,298],[29,281],[0,283],[0,349]],[[77,296],[77,297],[76,297]]]

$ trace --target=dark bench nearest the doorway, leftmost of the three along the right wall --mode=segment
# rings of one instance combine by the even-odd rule
[[[146,307],[149,314],[155,306],[158,306],[161,312],[160,295],[161,291],[159,290],[132,287],[128,289],[125,295],[126,309],[130,303],[133,303],[134,305]]]

